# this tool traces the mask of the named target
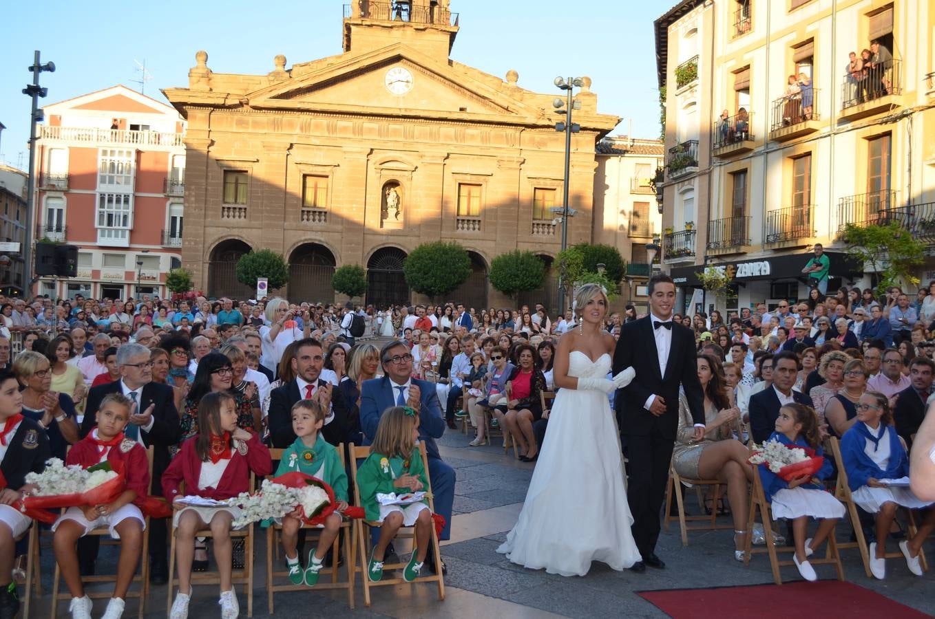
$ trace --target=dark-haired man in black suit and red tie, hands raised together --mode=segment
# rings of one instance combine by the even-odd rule
[[[333,445],[346,443],[352,415],[357,415],[357,405],[344,401],[339,389],[319,376],[324,366],[322,344],[313,338],[300,340],[295,345],[292,369],[295,379],[269,393],[269,440],[274,447],[285,448],[295,443],[292,428],[292,407],[299,400],[318,400],[327,410],[322,436]]]

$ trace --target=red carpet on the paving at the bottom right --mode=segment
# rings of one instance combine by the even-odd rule
[[[665,589],[642,591],[639,595],[673,619],[788,619],[797,613],[797,609],[806,615],[830,613],[847,619],[921,619],[929,616],[870,589],[840,581],[799,581],[783,585],[756,584],[714,589]]]

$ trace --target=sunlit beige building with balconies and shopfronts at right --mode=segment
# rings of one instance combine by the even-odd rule
[[[663,260],[686,302],[706,264],[731,280],[722,311],[804,298],[815,243],[829,289],[868,286],[847,222],[897,221],[935,247],[933,23],[931,0],[685,0],[655,22]]]

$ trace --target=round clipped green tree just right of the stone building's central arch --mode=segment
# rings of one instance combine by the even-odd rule
[[[424,243],[406,257],[403,274],[410,288],[438,299],[468,281],[470,257],[457,243]]]

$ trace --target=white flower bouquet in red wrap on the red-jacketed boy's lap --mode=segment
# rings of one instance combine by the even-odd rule
[[[46,462],[42,472],[26,475],[26,484],[33,485],[23,497],[27,509],[53,509],[79,505],[106,505],[123,492],[123,471],[114,470],[110,462],[89,469],[78,465],[65,466],[57,457]]]

